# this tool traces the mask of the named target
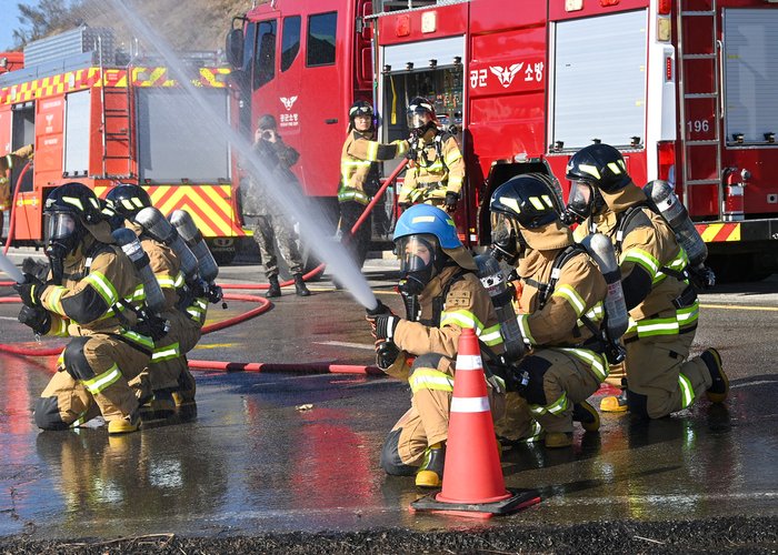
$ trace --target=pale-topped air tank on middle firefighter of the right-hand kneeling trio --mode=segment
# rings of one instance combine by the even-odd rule
[[[616,262],[616,253],[614,252],[614,243],[610,239],[601,233],[587,235],[581,244],[586,246],[589,255],[595,259],[597,265],[600,266],[600,272],[608,284],[608,294],[605,297],[605,312],[607,319],[608,339],[612,342],[618,341],[629,327],[629,313],[627,304],[624,301],[624,291],[621,290],[621,270]]]

